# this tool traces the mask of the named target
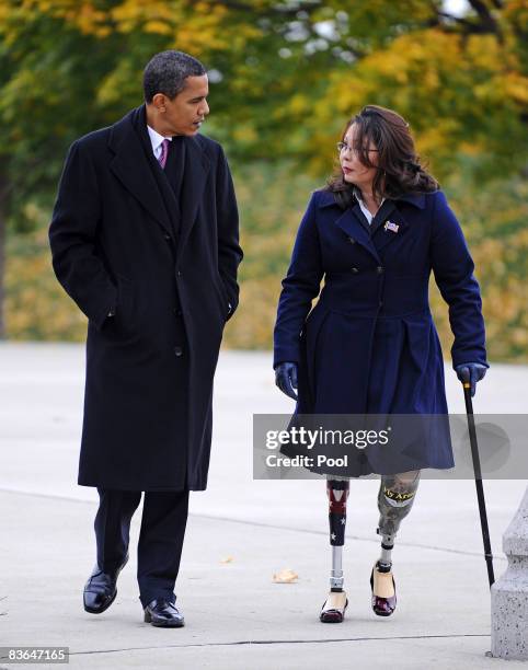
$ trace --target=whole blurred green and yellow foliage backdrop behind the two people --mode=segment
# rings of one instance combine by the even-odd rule
[[[375,103],[410,122],[462,223],[490,358],[527,361],[528,2],[457,5],[0,0],[0,332],[83,339],[85,320],[57,284],[47,246],[62,161],[73,139],[141,103],[154,53],[179,48],[209,69],[204,131],[226,147],[241,209],[241,305],[227,346],[271,346],[310,192],[331,173],[346,119]],[[447,307],[434,281],[432,302],[447,354]]]

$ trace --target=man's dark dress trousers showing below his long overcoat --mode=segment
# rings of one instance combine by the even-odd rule
[[[95,516],[97,565],[105,573],[117,569],[128,553],[130,521],[141,492],[97,488]],[[180,569],[188,511],[188,490],[145,492],[138,542],[139,599],[144,608],[154,598],[175,602],[174,584]]]

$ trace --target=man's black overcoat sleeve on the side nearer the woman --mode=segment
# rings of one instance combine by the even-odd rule
[[[229,300],[227,320],[239,303],[238,267],[243,253],[239,245],[239,212],[233,181],[223,151],[220,149],[217,170],[218,272]]]

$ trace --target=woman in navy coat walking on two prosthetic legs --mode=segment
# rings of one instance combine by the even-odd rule
[[[452,366],[471,382],[472,394],[489,367],[481,296],[461,228],[397,113],[364,107],[337,147],[338,170],[312,194],[283,281],[274,335],[277,385],[297,400],[296,416],[447,415],[428,305],[432,270],[449,305]],[[370,577],[372,609],[382,616],[394,611],[390,552],[420,471],[454,466],[448,431],[440,435],[414,443],[401,459],[387,449],[351,450],[347,477],[328,474],[333,565],[321,621],[343,621],[348,477],[370,473],[381,475],[382,538]],[[283,451],[300,453],[292,446]]]

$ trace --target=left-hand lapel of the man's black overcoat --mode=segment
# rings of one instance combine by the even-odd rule
[[[115,157],[110,168],[125,188],[139,200],[167,232],[172,234],[172,226],[163,198],[145,155],[141,140],[133,125],[134,115],[139,114],[140,111],[141,107],[133,109],[113,126],[108,145],[115,152]]]

